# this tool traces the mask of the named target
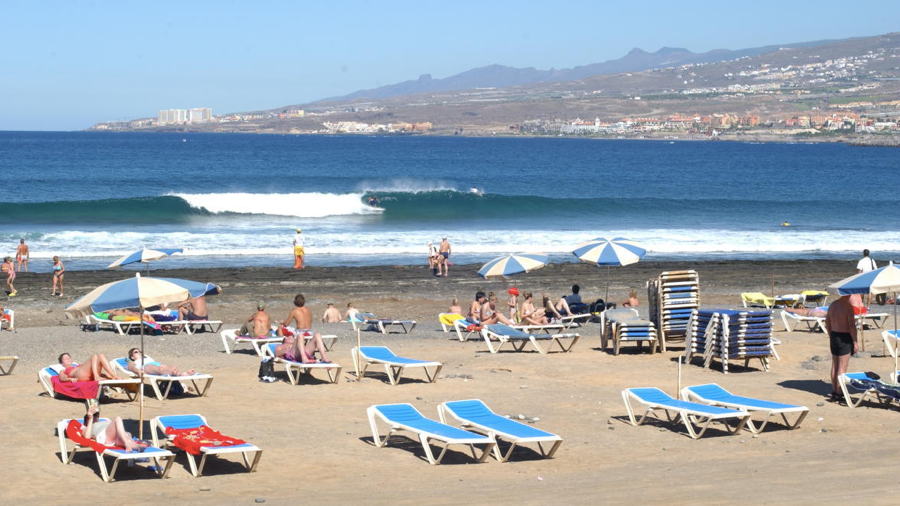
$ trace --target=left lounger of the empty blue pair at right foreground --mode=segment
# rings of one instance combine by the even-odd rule
[[[722,422],[729,433],[736,434],[750,419],[750,413],[744,410],[681,401],[654,387],[626,388],[622,390],[622,400],[625,401],[625,409],[628,410],[628,419],[635,427],[643,424],[649,415],[656,416],[656,411],[663,411],[666,419],[670,422],[675,418],[681,418],[688,434],[693,439],[701,438],[713,421]],[[640,418],[635,418],[632,402],[637,402],[647,408]],[[737,420],[737,425],[732,428],[728,425],[727,420]],[[696,429],[700,429],[700,431],[698,432]]]

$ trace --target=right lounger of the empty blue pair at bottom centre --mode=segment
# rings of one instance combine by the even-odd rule
[[[473,428],[495,440],[502,439],[512,443],[505,455],[500,451],[499,445],[494,447],[494,458],[500,462],[509,460],[516,446],[523,443],[537,443],[541,455],[551,459],[563,441],[556,434],[500,416],[478,399],[441,403],[438,405],[438,416],[442,423],[447,423],[447,417],[453,417],[464,428]],[[542,443],[553,443],[553,446],[545,452]]]

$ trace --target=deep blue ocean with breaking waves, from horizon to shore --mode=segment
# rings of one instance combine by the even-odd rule
[[[595,237],[656,260],[900,259],[889,148],[560,138],[0,132],[0,254],[32,270],[455,263]],[[479,193],[470,192],[477,189]],[[377,196],[383,211],[366,205]],[[790,226],[782,226],[784,222]]]

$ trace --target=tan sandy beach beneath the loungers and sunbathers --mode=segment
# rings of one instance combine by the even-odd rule
[[[339,504],[621,504],[642,502],[733,504],[811,504],[827,501],[888,504],[896,502],[900,485],[896,451],[900,446],[895,409],[864,404],[850,409],[824,402],[830,356],[821,333],[783,332],[776,321],[781,360],[769,372],[751,362],[723,374],[717,366],[694,363],[683,369],[684,385],[719,383],[740,395],[802,404],[810,414],[802,427],[784,430],[776,423],[758,437],[749,431],[728,435],[710,429],[690,439],[683,425],[627,423],[621,391],[656,386],[674,394],[676,359],[682,343],[667,353],[650,355],[626,345],[613,356],[600,350],[599,326],[579,329],[581,341],[571,353],[525,352],[490,354],[482,340],[459,342],[443,333],[436,314],[459,297],[465,307],[478,289],[495,291],[505,300],[508,286],[521,291],[569,293],[582,287],[586,301],[604,297],[621,302],[629,289],[646,301],[647,280],[665,270],[696,269],[705,308],[736,308],[740,292],[779,294],[824,289],[854,272],[854,263],[839,261],[642,262],[606,269],[585,264],[550,265],[513,279],[484,280],[479,266],[454,266],[446,279],[434,278],[424,266],[159,270],[153,274],[222,286],[211,298],[211,316],[236,328],[266,303],[274,319],[290,310],[296,293],[306,295],[316,319],[327,302],[343,309],[348,302],[383,317],[419,322],[409,335],[364,332],[364,344],[386,345],[396,353],[443,362],[433,384],[413,371],[398,385],[371,370],[362,381],[352,374],[350,348],[355,335],[348,324],[317,324],[317,330],[339,337],[329,358],[344,367],[337,385],[304,378],[257,380],[258,357],[249,348],[228,355],[218,334],[148,337],[146,351],[155,359],[210,372],[215,382],[202,398],[182,396],[166,401],[148,397],[145,420],[164,414],[200,413],[225,434],[264,450],[256,473],[246,473],[235,460],[213,459],[203,477],[190,475],[179,456],[166,480],[139,464],[120,469],[117,481],[104,483],[93,455],[82,453],[73,464],[59,460],[56,423],[81,416],[80,401],[51,399],[36,382],[37,371],[67,351],[76,360],[91,353],[124,356],[139,338],[111,331],[82,332],[67,320],[64,306],[100,284],[131,273],[70,271],[66,297],[49,297],[49,275],[23,274],[19,295],[4,300],[16,310],[16,332],[0,333],[0,354],[21,358],[12,375],[0,377],[5,408],[0,410],[0,464],[4,504],[296,504],[329,501]],[[646,315],[646,306],[642,306]],[[873,312],[890,308],[873,306]],[[893,322],[888,322],[888,327]],[[866,331],[867,352],[854,357],[851,371],[885,376],[893,365],[881,345],[880,330]],[[279,379],[284,373],[278,370]],[[530,449],[517,450],[508,463],[490,459],[475,464],[462,449],[448,452],[444,463],[431,466],[418,441],[398,436],[387,448],[376,448],[366,420],[372,404],[409,402],[437,417],[440,402],[478,398],[504,415],[538,418],[534,425],[560,434],[565,442],[554,459]],[[124,399],[102,404],[103,416],[121,416],[137,432],[138,403]],[[149,424],[145,421],[145,437]],[[114,494],[114,495],[112,495]]]

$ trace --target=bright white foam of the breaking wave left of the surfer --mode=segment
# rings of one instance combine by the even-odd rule
[[[173,193],[171,196],[211,213],[323,218],[379,212],[363,203],[362,193]]]

